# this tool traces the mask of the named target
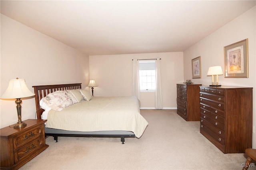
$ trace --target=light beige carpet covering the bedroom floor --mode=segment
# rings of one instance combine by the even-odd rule
[[[176,110],[141,110],[149,125],[140,139],[53,137],[20,170],[241,170],[246,155],[224,154]],[[253,170],[255,168],[249,168]]]

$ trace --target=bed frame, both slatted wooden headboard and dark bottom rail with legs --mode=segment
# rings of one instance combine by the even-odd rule
[[[32,86],[35,92],[35,100],[36,100],[36,115],[37,119],[41,119],[41,115],[44,111],[40,107],[40,100],[44,98],[47,94],[55,92],[57,90],[74,90],[80,89],[82,83],[76,84],[56,84],[56,85],[43,85],[43,86]],[[127,135],[127,134],[108,134],[108,135],[99,135],[99,134],[64,134],[64,133],[45,133],[46,136],[54,137],[54,140],[58,142],[58,136],[61,137],[121,137],[121,142],[124,144],[124,137],[135,137],[135,135]]]

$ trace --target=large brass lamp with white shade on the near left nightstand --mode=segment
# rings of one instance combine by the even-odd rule
[[[16,99],[16,108],[18,114],[18,122],[13,127],[24,127],[27,124],[21,120],[21,103],[22,100],[20,98],[26,98],[30,96],[34,96],[35,94],[30,92],[28,87],[26,86],[24,79],[11,79],[8,85],[7,90],[1,96],[2,99]]]

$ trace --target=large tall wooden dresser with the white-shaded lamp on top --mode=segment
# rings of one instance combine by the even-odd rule
[[[223,153],[252,148],[252,88],[200,86],[200,133]]]

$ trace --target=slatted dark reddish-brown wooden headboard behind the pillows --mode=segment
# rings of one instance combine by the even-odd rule
[[[82,83],[75,83],[75,84],[54,84],[54,85],[42,85],[42,86],[32,86],[35,92],[35,100],[36,100],[36,115],[37,119],[41,119],[41,115],[44,111],[39,105],[39,102],[42,98],[47,96],[52,92],[58,90],[74,90],[80,89]]]

